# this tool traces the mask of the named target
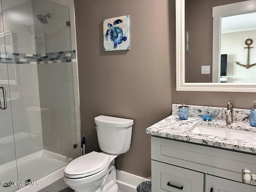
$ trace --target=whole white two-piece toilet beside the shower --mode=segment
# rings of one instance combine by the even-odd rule
[[[94,118],[102,152],[90,152],[70,162],[64,181],[75,192],[117,192],[115,158],[130,149],[132,119],[110,116]]]

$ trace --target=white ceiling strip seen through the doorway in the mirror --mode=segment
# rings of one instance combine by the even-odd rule
[[[221,33],[256,30],[256,12],[222,17]]]

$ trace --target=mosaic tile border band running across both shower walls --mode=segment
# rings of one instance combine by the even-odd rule
[[[7,57],[6,57],[7,56]],[[15,64],[47,64],[76,61],[76,50],[44,54],[0,53],[0,61]]]

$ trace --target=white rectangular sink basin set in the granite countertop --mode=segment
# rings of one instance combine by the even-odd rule
[[[196,126],[191,132],[256,142],[256,132],[240,131],[202,125]]]

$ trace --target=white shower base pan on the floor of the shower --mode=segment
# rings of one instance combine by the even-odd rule
[[[36,192],[62,178],[65,166],[72,160],[72,158],[43,149],[18,158],[17,168],[15,160],[2,164],[0,165],[0,182],[16,181],[16,185],[8,187],[0,185],[0,192]],[[23,186],[24,183],[19,183],[22,185],[18,186],[18,180],[24,182],[29,179],[34,184]]]

